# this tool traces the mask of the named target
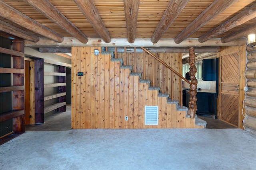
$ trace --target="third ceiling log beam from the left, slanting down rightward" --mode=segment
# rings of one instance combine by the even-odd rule
[[[87,37],[71,23],[60,11],[58,11],[48,0],[24,0],[27,4],[35,8],[38,12],[52,20],[62,29],[70,33],[73,37],[87,43]]]

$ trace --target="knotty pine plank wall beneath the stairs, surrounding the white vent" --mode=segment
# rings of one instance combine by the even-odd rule
[[[158,90],[148,90],[139,76],[130,76],[129,68],[120,68],[110,55],[95,56],[94,49],[101,51],[100,47],[72,47],[72,128],[203,128],[187,118],[186,111],[176,111],[176,104],[168,104],[166,97],[158,97]],[[137,60],[137,72],[140,65],[151,62],[146,56]],[[158,106],[158,125],[144,125],[146,105]]]

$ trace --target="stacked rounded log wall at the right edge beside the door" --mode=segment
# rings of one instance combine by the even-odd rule
[[[255,45],[256,43],[254,43]],[[245,113],[244,127],[248,131],[256,133],[256,48],[248,44],[247,46],[247,69],[245,77],[247,80],[248,91],[244,100]]]

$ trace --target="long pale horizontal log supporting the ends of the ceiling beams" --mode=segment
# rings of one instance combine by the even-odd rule
[[[88,43],[83,44],[77,39],[65,37],[62,43],[56,43],[50,39],[40,38],[36,43],[25,40],[25,47],[221,47],[221,46],[241,46],[246,45],[247,39],[241,38],[229,43],[222,43],[220,38],[213,38],[205,43],[199,43],[197,38],[189,38],[176,44],[174,39],[160,39],[157,43],[152,43],[148,38],[136,38],[134,43],[128,43],[126,38],[112,38],[110,43],[105,43],[98,38],[88,38]]]

